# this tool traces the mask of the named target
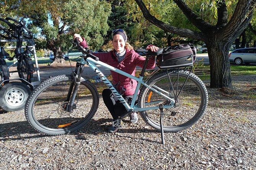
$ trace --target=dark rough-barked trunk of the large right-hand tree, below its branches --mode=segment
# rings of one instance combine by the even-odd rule
[[[231,43],[227,44],[227,42],[221,42],[220,37],[209,40],[209,42],[205,42],[205,44],[210,61],[210,87],[232,88],[228,58]]]

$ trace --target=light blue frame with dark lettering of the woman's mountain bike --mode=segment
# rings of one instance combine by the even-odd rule
[[[147,85],[147,82],[145,82],[143,80],[143,76],[139,76],[138,77],[135,77],[133,75],[130,75],[124,71],[121,71],[115,67],[112,67],[112,66],[109,66],[108,64],[106,63],[103,63],[101,61],[96,61],[95,59],[92,59],[90,57],[88,57],[86,60],[84,58],[82,58],[80,60],[80,63],[81,64],[86,64],[91,67],[91,69],[99,76],[99,78],[106,84],[106,86],[112,91],[112,93],[114,95],[117,96],[117,98],[120,100],[120,102],[126,107],[126,109],[129,111],[129,110],[132,110],[132,111],[147,111],[147,110],[153,110],[153,109],[159,109],[159,106],[156,106],[156,107],[144,107],[144,108],[138,108],[137,105],[134,105],[135,104],[135,101],[136,101],[136,98],[132,98],[132,102],[131,102],[131,105],[129,105],[125,99],[122,97],[122,95],[120,95],[120,93],[116,90],[116,88],[113,86],[113,84],[107,79],[107,77],[100,71],[100,69],[96,66],[99,65],[99,66],[103,66],[111,71],[114,71],[114,72],[117,72],[119,74],[122,74],[126,77],[129,77],[131,79],[134,79],[138,82],[138,85],[135,89],[135,93],[134,94],[138,94],[139,92],[139,88],[140,88],[140,85],[144,85],[145,87],[149,88],[150,90],[154,91],[155,93],[159,94],[159,95],[162,95],[164,96],[166,99],[170,100],[170,104],[168,106],[162,106],[164,109],[165,108],[170,108],[170,107],[173,107],[174,106],[174,99],[170,98],[169,95],[170,93],[168,91],[165,91],[155,85],[153,85],[152,87],[148,86]],[[157,90],[156,90],[156,89]],[[166,93],[167,95],[163,94],[163,93]],[[150,104],[153,104],[153,103],[159,103],[159,101],[155,101],[155,102],[149,102],[149,103],[146,103],[146,105],[150,105]]]

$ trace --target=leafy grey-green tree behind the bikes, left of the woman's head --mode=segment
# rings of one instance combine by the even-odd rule
[[[86,4],[86,5],[85,5]],[[46,35],[48,48],[54,52],[55,60],[63,61],[62,51],[70,48],[73,34],[85,37],[93,49],[103,45],[108,30],[107,19],[110,6],[105,1],[70,0],[62,3],[60,13],[47,11],[38,21],[42,33]],[[49,25],[48,20],[52,20]]]

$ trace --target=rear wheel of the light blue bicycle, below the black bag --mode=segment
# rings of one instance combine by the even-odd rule
[[[204,83],[196,75],[189,74],[188,71],[166,70],[154,75],[147,84],[175,101],[173,107],[163,109],[164,131],[184,130],[196,123],[204,114],[208,103],[208,94]],[[145,86],[140,91],[138,98],[138,105],[141,108],[170,106],[170,103],[170,100]],[[160,130],[160,109],[140,113],[145,122]]]

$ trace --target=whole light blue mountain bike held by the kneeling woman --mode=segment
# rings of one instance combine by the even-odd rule
[[[204,114],[208,103],[207,90],[199,77],[191,73],[192,68],[190,72],[183,69],[157,69],[147,80],[143,80],[148,59],[159,55],[163,49],[155,52],[142,50],[146,60],[140,76],[135,77],[98,61],[96,56],[80,47],[77,39],[74,42],[85,56],[77,62],[72,74],[59,75],[42,82],[26,101],[26,119],[39,132],[48,135],[70,133],[93,117],[99,105],[99,94],[95,85],[82,77],[85,64],[93,69],[126,107],[127,112],[116,121],[117,127],[122,126],[124,117],[132,112],[140,112],[145,122],[161,130],[164,143],[163,131],[184,130]],[[138,94],[142,85],[137,104],[136,98],[128,104],[96,65],[136,80],[138,85],[134,94]]]

